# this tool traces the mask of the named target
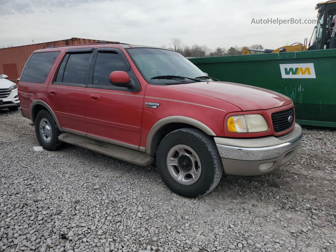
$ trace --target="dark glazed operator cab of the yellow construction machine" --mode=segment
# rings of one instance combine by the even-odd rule
[[[307,50],[328,49],[331,38],[329,28],[336,15],[336,1],[319,3],[315,9],[318,10],[318,23],[317,26],[314,27]],[[312,39],[313,41],[311,43]]]

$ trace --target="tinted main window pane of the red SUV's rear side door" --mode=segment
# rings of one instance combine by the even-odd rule
[[[70,54],[65,67],[62,82],[84,84],[86,69],[89,63],[90,56],[91,53]],[[60,71],[58,72],[60,73]]]

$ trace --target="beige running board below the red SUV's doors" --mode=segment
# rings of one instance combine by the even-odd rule
[[[152,164],[154,161],[154,157],[148,154],[130,150],[111,143],[101,142],[84,136],[62,133],[58,136],[58,139],[62,142],[77,145],[79,147],[113,158],[121,159],[136,165],[146,166]]]

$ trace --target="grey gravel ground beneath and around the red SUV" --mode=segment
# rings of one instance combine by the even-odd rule
[[[272,174],[186,199],[155,165],[35,152],[28,123],[0,110],[0,251],[336,251],[336,131],[304,129]]]

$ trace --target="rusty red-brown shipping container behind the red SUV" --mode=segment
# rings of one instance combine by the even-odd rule
[[[0,49],[0,74],[8,75],[8,79],[16,80],[20,78],[21,72],[26,64],[27,59],[33,51],[46,48],[47,46],[65,46],[96,43],[96,39],[71,38],[57,40],[46,43],[32,45],[14,46]],[[108,44],[119,44],[119,42],[104,41]]]

